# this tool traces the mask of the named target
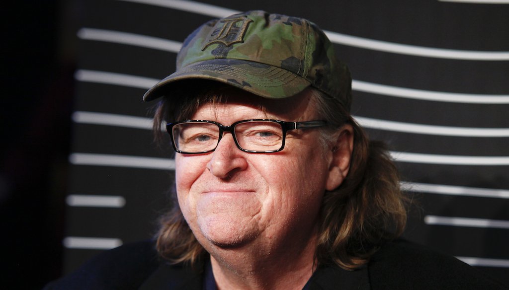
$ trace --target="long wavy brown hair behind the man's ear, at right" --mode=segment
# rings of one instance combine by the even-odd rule
[[[315,255],[319,265],[335,263],[344,269],[355,269],[365,264],[384,242],[403,233],[409,200],[400,189],[398,169],[385,144],[370,141],[335,99],[317,90],[313,93],[318,114],[332,127],[325,130],[350,124],[354,131],[348,175],[339,187],[324,194]]]

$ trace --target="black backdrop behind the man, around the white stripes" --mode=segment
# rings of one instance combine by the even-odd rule
[[[160,3],[165,3],[161,1]],[[509,5],[438,1],[203,1],[245,11],[264,9],[308,18],[324,30],[365,39],[454,50],[509,51]],[[71,122],[72,112],[148,118],[145,89],[76,81],[80,70],[160,79],[171,73],[176,53],[81,39],[80,28],[127,32],[182,42],[208,13],[127,1],[18,1],[6,9],[2,46],[3,273],[9,289],[38,289],[72,271],[99,249],[63,247],[66,237],[150,238],[155,218],[168,207],[172,170],[69,164],[70,154],[171,158],[157,149],[147,129]],[[458,60],[383,52],[335,44],[356,81],[425,91],[509,94],[509,61]],[[509,128],[509,104],[442,102],[355,90],[356,117],[473,128]],[[479,99],[482,99],[480,96]],[[508,137],[458,137],[367,129],[394,152],[453,156],[509,156]],[[75,155],[74,155],[75,156]],[[467,158],[468,159],[468,158]],[[499,197],[411,190],[419,207],[405,236],[460,257],[509,260],[509,229],[434,225],[427,216],[509,221],[509,174],[505,165],[402,162],[402,180],[414,184],[498,189]],[[503,194],[506,194],[505,197]],[[74,207],[69,194],[122,196],[122,208]],[[509,266],[478,267],[509,284]]]

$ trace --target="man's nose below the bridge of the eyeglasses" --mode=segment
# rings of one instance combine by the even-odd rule
[[[225,133],[212,152],[207,169],[218,178],[229,178],[235,172],[247,168],[245,154],[237,148],[232,134]]]

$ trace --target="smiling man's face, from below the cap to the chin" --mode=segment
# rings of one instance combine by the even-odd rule
[[[191,117],[231,125],[239,120],[317,120],[310,92],[269,100],[232,90],[228,103],[204,104]],[[266,111],[250,103],[262,103]],[[307,243],[316,235],[330,155],[317,129],[291,130],[285,149],[257,154],[240,151],[230,133],[206,154],[177,154],[176,185],[182,213],[199,242],[273,248]]]

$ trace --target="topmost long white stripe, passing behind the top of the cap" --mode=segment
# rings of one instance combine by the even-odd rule
[[[214,5],[182,0],[120,0],[126,2],[142,3],[159,7],[172,8],[212,17],[225,17],[241,11],[222,8]],[[332,43],[360,47],[370,50],[385,51],[391,53],[408,54],[441,59],[457,59],[471,61],[507,61],[509,51],[472,51],[454,50],[433,47],[423,47],[392,43],[387,41],[372,40],[346,34],[325,31]]]

